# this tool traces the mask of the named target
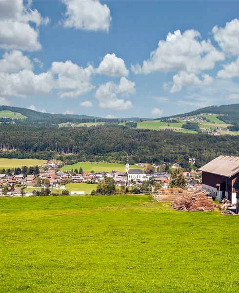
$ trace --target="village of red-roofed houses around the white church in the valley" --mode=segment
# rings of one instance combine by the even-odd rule
[[[195,159],[189,159],[191,164],[195,163]],[[0,196],[38,196],[40,191],[46,191],[45,195],[82,195],[89,192],[80,188],[80,190],[68,191],[69,183],[84,183],[97,185],[106,178],[112,178],[117,187],[138,188],[143,192],[142,185],[144,182],[150,182],[151,190],[155,188],[168,188],[171,180],[171,171],[180,168],[177,163],[169,164],[169,170],[166,172],[159,171],[159,165],[136,164],[144,169],[131,169],[128,160],[125,165],[125,172],[112,170],[111,172],[86,172],[81,168],[71,171],[61,171],[59,166],[61,162],[48,161],[40,167],[15,168],[14,172],[4,172],[0,174]],[[150,170],[147,171],[147,167]],[[146,168],[146,169],[145,169]],[[158,169],[158,171],[157,171]],[[12,170],[13,171],[13,170]],[[186,179],[186,187],[188,189],[200,189],[201,172],[192,170],[191,172],[183,171]],[[43,190],[44,189],[44,190]],[[42,193],[44,194],[44,193]]]

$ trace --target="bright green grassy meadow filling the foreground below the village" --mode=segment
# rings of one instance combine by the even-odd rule
[[[0,292],[238,293],[239,217],[146,195],[0,198]]]

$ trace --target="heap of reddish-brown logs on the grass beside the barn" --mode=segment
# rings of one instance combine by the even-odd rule
[[[196,211],[213,210],[217,205],[213,202],[211,196],[207,196],[206,190],[190,190],[182,193],[178,199],[172,202],[172,209]]]

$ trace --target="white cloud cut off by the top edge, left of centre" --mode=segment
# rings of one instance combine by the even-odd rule
[[[86,31],[109,31],[111,16],[106,4],[98,0],[62,0],[66,5],[65,27]]]

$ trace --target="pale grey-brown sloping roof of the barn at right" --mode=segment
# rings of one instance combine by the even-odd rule
[[[225,177],[232,177],[239,173],[239,157],[219,156],[199,169]]]

